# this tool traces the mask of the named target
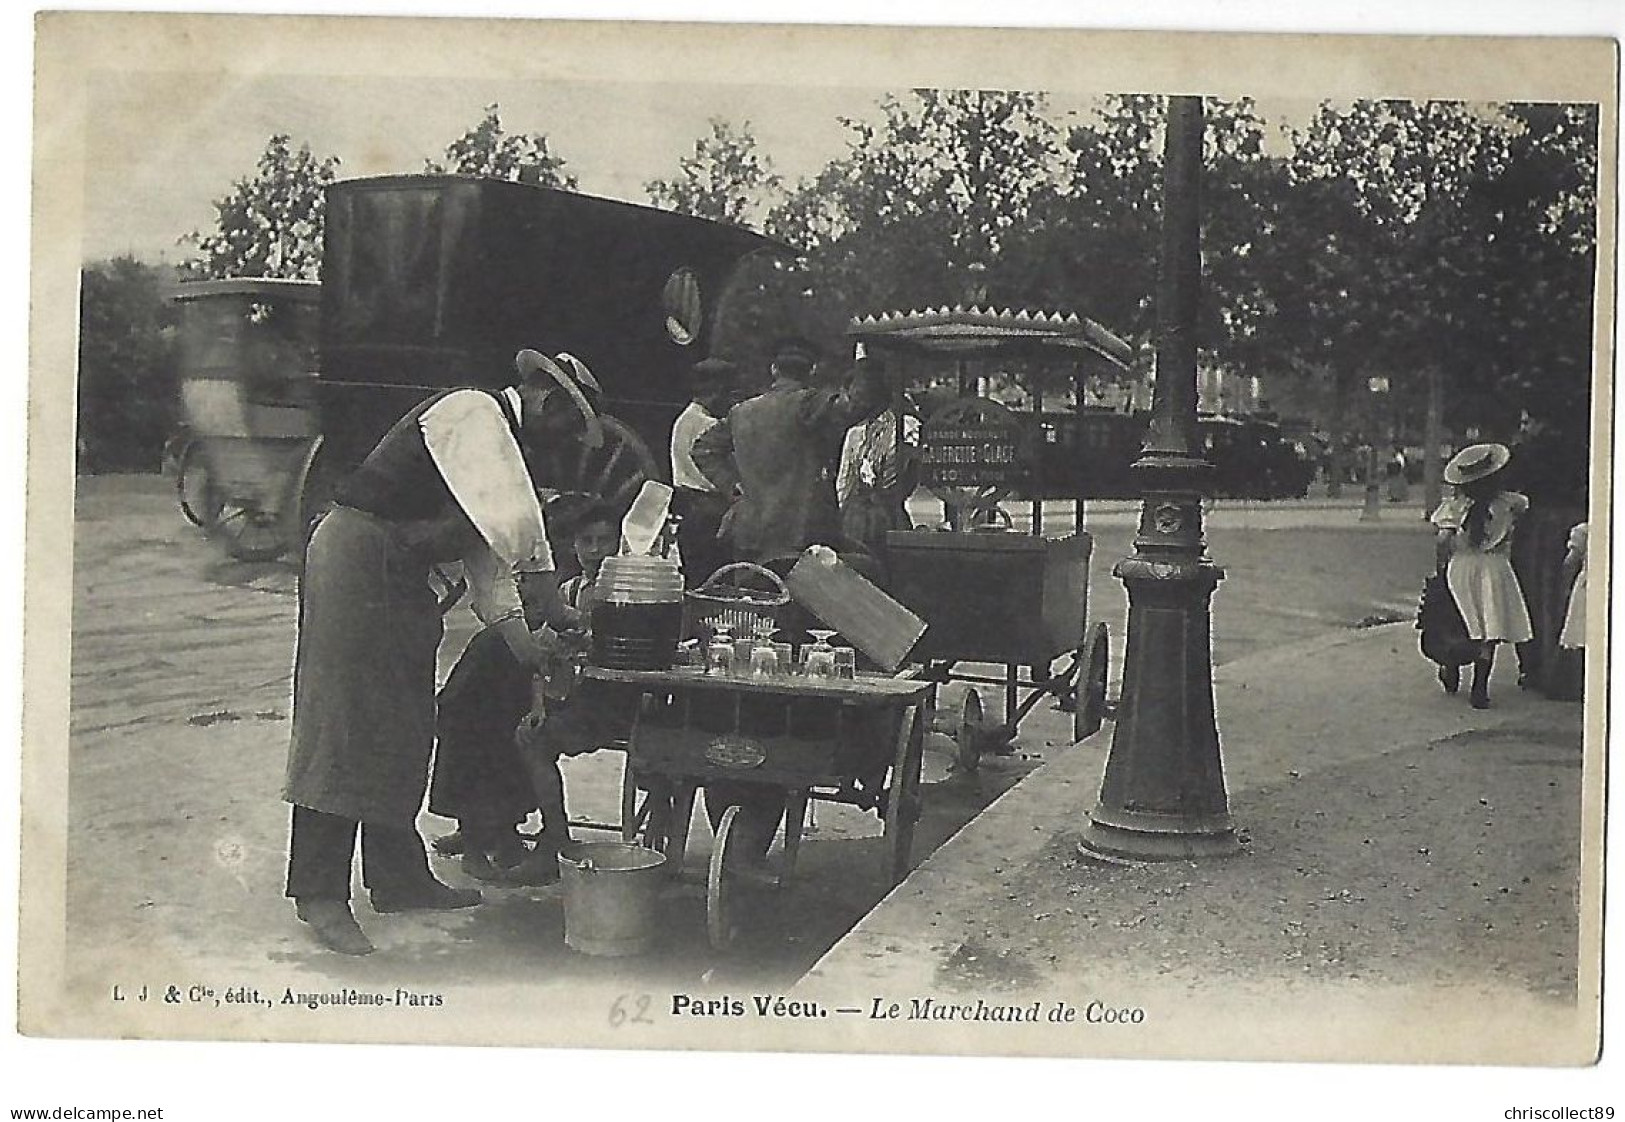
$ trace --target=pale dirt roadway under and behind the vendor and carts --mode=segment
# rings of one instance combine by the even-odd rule
[[[1230,568],[1216,597],[1216,657],[1404,615],[1428,540],[1415,512],[1394,514],[1362,527],[1350,511],[1287,512],[1271,528],[1216,514],[1212,551]],[[1092,603],[1110,621],[1120,659],[1124,605],[1110,561],[1128,550],[1133,515],[1103,512],[1092,528]],[[819,808],[793,889],[760,911],[726,958],[704,943],[697,893],[668,902],[671,938],[658,955],[635,966],[574,956],[562,948],[556,889],[494,891],[481,909],[437,917],[375,917],[362,904],[380,955],[343,961],[314,951],[280,896],[292,590],[288,566],[219,561],[180,520],[162,481],[81,481],[67,904],[68,964],[86,994],[120,979],[158,982],[150,976],[172,972],[169,964],[214,977],[275,966],[312,985],[595,976],[785,985],[881,898],[878,821]],[[455,621],[447,662],[471,629],[471,618]],[[1019,746],[973,782],[947,781],[946,758],[928,758],[916,860],[1058,750]],[[611,816],[618,774],[609,753],[575,761],[572,810]],[[445,828],[424,820],[429,834]],[[708,846],[704,826],[697,833],[696,860]],[[460,881],[455,867],[442,873]]]

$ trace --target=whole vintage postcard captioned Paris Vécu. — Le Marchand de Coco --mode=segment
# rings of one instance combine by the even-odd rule
[[[36,34],[24,1034],[1597,1059],[1614,42]]]

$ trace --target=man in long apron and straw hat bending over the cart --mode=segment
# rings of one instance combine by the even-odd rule
[[[601,439],[585,366],[528,350],[515,364],[517,385],[437,394],[396,421],[338,488],[306,550],[283,792],[292,803],[288,896],[315,938],[344,955],[372,950],[349,906],[358,829],[375,912],[479,902],[434,876],[416,826],[442,637],[429,574],[462,561],[474,613],[515,659],[540,667],[514,566],[551,569],[552,554],[520,439]]]

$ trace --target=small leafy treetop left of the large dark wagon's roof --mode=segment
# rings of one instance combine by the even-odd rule
[[[180,239],[197,254],[182,268],[193,278],[283,276],[315,280],[322,270],[323,189],[338,156],[297,151],[286,133],[271,137],[250,177],[214,200],[214,231]]]

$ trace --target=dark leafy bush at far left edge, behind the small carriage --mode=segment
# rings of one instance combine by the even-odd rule
[[[176,426],[176,312],[167,270],[135,257],[80,273],[83,472],[154,472]]]

